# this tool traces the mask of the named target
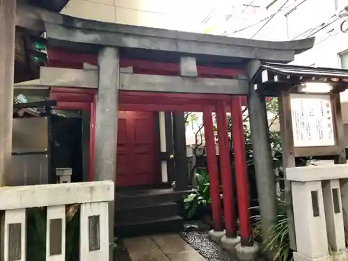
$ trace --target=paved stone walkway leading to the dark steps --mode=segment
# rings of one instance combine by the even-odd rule
[[[132,261],[206,261],[175,234],[132,237],[123,242]]]

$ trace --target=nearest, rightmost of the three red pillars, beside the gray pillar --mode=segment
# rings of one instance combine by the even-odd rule
[[[241,97],[231,99],[232,143],[235,159],[235,177],[237,183],[237,200],[239,214],[239,233],[242,246],[253,246],[249,214],[249,184],[246,167],[246,150],[242,118]]]

